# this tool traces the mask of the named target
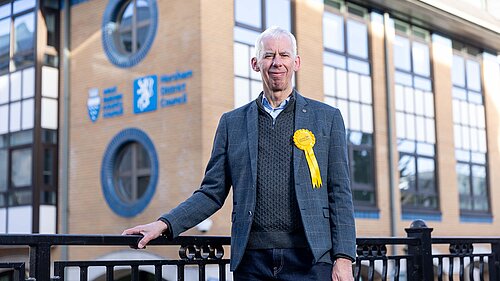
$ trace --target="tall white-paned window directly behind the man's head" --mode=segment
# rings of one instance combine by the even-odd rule
[[[250,67],[255,39],[273,25],[291,31],[291,4],[289,0],[235,0],[234,17],[234,107],[240,107],[262,92],[260,73]]]

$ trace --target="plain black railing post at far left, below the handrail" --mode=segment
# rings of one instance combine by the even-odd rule
[[[50,244],[30,245],[30,277],[37,281],[50,280]]]

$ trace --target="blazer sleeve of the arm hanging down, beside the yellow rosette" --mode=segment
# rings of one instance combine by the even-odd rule
[[[356,228],[350,186],[344,121],[334,108],[328,155],[328,203],[332,234],[332,258],[356,258]]]

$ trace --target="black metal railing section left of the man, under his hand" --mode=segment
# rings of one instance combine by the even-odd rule
[[[113,280],[116,267],[128,266],[131,268],[131,280],[140,280],[138,270],[140,266],[154,266],[155,280],[161,279],[162,267],[175,265],[177,279],[184,280],[184,267],[196,265],[199,268],[199,280],[205,280],[205,266],[219,265],[219,280],[225,280],[225,267],[229,259],[224,259],[224,245],[230,245],[230,237],[210,236],[181,236],[173,240],[159,237],[149,245],[178,246],[179,259],[176,260],[128,260],[128,261],[56,261],[54,262],[54,276],[51,278],[51,248],[56,245],[67,246],[127,246],[135,247],[141,236],[130,235],[64,235],[64,234],[31,234],[31,235],[0,235],[0,245],[28,246],[29,251],[29,278],[36,280],[66,280],[64,270],[69,267],[78,267],[80,280],[87,280],[89,267],[103,266],[106,268],[106,280]],[[11,263],[13,264],[13,263]],[[24,266],[24,264],[22,264]],[[16,264],[17,266],[17,264]],[[8,264],[0,263],[0,268],[12,268]],[[224,269],[224,270],[222,270]],[[16,277],[17,280],[17,277]],[[19,280],[24,280],[20,278]]]

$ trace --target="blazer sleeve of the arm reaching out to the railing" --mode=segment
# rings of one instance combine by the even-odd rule
[[[215,133],[212,155],[201,187],[186,201],[161,216],[161,220],[169,222],[172,238],[210,217],[224,204],[231,188],[227,164],[227,131],[224,114]]]

